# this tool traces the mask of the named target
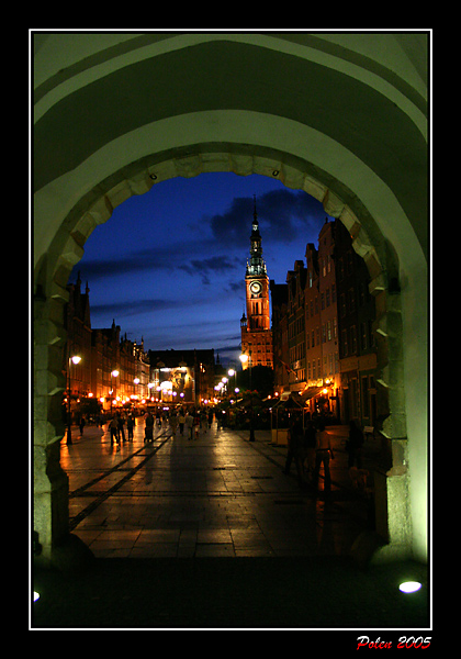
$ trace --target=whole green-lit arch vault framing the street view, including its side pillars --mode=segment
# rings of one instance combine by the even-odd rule
[[[68,534],[63,305],[91,232],[171,177],[277,177],[321,200],[376,297],[383,557],[427,559],[429,35],[87,33],[34,51],[34,529]]]

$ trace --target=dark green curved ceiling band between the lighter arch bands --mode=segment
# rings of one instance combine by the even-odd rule
[[[225,38],[137,58],[63,96],[35,124],[35,189],[143,126],[216,111],[272,115],[324,134],[393,191],[425,249],[427,144],[408,114],[344,71]]]

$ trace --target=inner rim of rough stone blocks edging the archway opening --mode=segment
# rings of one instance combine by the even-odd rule
[[[379,416],[382,420],[381,429],[383,435],[389,438],[391,446],[394,447],[392,451],[394,456],[392,469],[400,477],[406,472],[406,470],[403,469],[403,460],[406,455],[404,449],[406,438],[405,418],[400,418],[398,425],[396,425],[396,418],[390,414],[391,410],[403,407],[403,382],[398,389],[395,387],[390,388],[387,383],[389,380],[398,380],[396,370],[402,368],[402,358],[400,360],[389,360],[389,325],[395,324],[395,317],[398,317],[400,309],[394,299],[395,294],[393,295],[392,304],[390,305],[389,303],[390,287],[387,273],[390,270],[396,271],[396,264],[391,263],[390,255],[386,254],[385,247],[383,248],[382,245],[379,245],[376,249],[376,247],[372,245],[372,241],[359,219],[351,209],[337,197],[337,194],[331,192],[321,181],[312,178],[302,170],[288,167],[282,163],[273,160],[273,158],[259,156],[248,157],[237,153],[218,153],[217,150],[213,153],[203,153],[203,147],[202,149],[198,149],[195,154],[191,153],[193,147],[190,147],[189,154],[182,158],[176,157],[169,160],[159,160],[158,157],[155,157],[155,164],[147,168],[145,167],[145,164],[138,164],[139,167],[142,167],[140,171],[134,174],[130,179],[124,178],[124,172],[115,172],[110,177],[108,181],[100,186],[100,190],[101,188],[106,188],[105,194],[101,194],[99,199],[97,198],[88,209],[85,209],[83,204],[81,204],[79,209],[76,209],[71,230],[66,228],[66,231],[63,232],[67,237],[67,242],[63,241],[64,244],[59,247],[60,254],[54,264],[50,261],[47,263],[46,270],[48,271],[43,270],[41,278],[38,278],[38,281],[42,281],[43,283],[38,283],[38,293],[35,299],[35,323],[42,332],[37,333],[36,338],[36,360],[44,360],[43,375],[46,375],[46,383],[42,383],[42,386],[48,388],[46,393],[46,400],[49,403],[46,410],[47,433],[52,433],[50,435],[48,434],[48,437],[50,437],[52,440],[48,442],[46,446],[42,446],[36,454],[36,457],[40,458],[36,462],[40,477],[36,480],[36,485],[38,485],[38,489],[41,489],[42,492],[37,492],[38,498],[35,500],[36,511],[40,513],[35,520],[35,528],[40,528],[40,536],[43,540],[45,540],[46,537],[50,538],[48,543],[44,543],[45,547],[52,548],[56,541],[59,544],[59,539],[65,537],[68,532],[68,483],[66,474],[59,467],[59,439],[63,436],[64,431],[58,422],[60,393],[65,388],[60,371],[65,332],[59,322],[59,319],[63,315],[61,308],[67,298],[65,287],[72,267],[82,256],[82,246],[92,231],[97,228],[99,224],[102,224],[110,219],[112,211],[116,205],[123,203],[123,201],[132,194],[147,192],[153,185],[159,182],[160,178],[161,180],[166,180],[173,176],[198,176],[201,172],[206,171],[228,171],[231,166],[236,170],[236,174],[240,175],[262,174],[272,176],[279,178],[285,185],[289,183],[292,188],[295,187],[293,183],[296,182],[297,189],[302,189],[307,193],[315,196],[316,199],[323,202],[325,211],[328,214],[338,217],[345,224],[352,236],[353,248],[367,263],[372,280],[370,290],[376,298],[376,309],[379,310],[379,317],[376,319],[376,332],[379,337],[378,367],[381,377],[378,379],[378,410]],[[110,186],[113,187],[110,188]],[[371,220],[369,219],[368,222],[370,224]],[[372,224],[370,224],[370,226],[372,226]],[[372,227],[372,230],[376,232],[375,227]],[[53,249],[53,252],[55,254],[57,253],[56,249]],[[381,252],[381,254],[379,254],[379,252]],[[393,286],[395,288],[395,284]],[[41,291],[44,288],[54,291],[54,294],[48,301],[41,297]],[[396,292],[397,291],[395,290],[394,293]],[[52,322],[50,317],[54,317],[55,322]],[[396,335],[398,337],[397,343],[400,343],[402,339],[402,332],[397,330]],[[50,340],[53,336],[54,338]],[[46,348],[43,345],[44,339],[47,346]],[[398,346],[394,347],[401,355],[402,351]],[[37,382],[37,389],[40,383]],[[43,400],[43,398],[41,400]],[[392,427],[387,427],[390,425],[392,425]],[[397,445],[402,450],[396,449]],[[45,460],[46,463],[45,468],[43,460]],[[398,501],[401,505],[403,501],[407,502],[408,492],[407,483],[402,490],[403,479],[400,478],[398,480],[398,484],[401,485]],[[385,482],[384,487],[392,488],[392,484],[391,479],[389,479],[389,482]],[[382,493],[382,496],[385,496],[385,493]],[[40,502],[40,498],[43,499],[42,502]],[[407,551],[411,544],[411,528],[407,524],[407,512],[404,517],[406,523],[404,532],[402,532],[403,520],[401,518],[401,515],[398,515],[398,520],[393,520],[393,516],[391,515],[391,526],[389,529],[390,539],[394,539],[392,538],[393,526],[395,526],[395,530],[397,528],[400,529],[397,543],[400,545],[400,552],[403,550]]]

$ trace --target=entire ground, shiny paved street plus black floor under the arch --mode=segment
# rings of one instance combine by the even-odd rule
[[[105,429],[105,427],[104,427]],[[156,428],[111,445],[74,431],[61,446],[70,530],[95,559],[82,573],[37,570],[38,628],[427,627],[428,579],[415,563],[359,570],[350,560],[370,526],[351,487],[345,428],[329,428],[333,490],[301,489],[271,434],[215,424],[198,439]],[[369,445],[372,457],[374,446]],[[417,574],[421,592],[397,585]]]

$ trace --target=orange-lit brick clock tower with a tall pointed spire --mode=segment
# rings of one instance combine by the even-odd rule
[[[273,368],[272,332],[269,312],[269,277],[262,258],[261,234],[255,212],[250,235],[250,258],[245,275],[246,312],[241,317],[241,351],[251,359],[251,366]],[[244,364],[248,368],[249,361]]]

